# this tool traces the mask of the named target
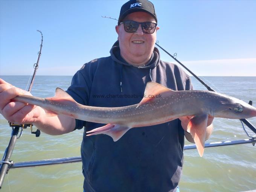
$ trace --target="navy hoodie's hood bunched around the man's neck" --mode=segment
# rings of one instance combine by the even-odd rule
[[[125,66],[130,66],[130,67],[136,67],[132,66],[131,64],[128,64],[120,55],[120,47],[119,47],[119,41],[117,40],[111,50],[110,50],[110,55],[111,58],[116,61],[119,64],[125,65]],[[143,67],[137,67],[137,68],[142,68],[142,69],[153,69],[156,66],[158,66],[160,62],[160,53],[156,47],[154,47],[153,53],[151,55],[151,58],[149,61],[145,64]]]

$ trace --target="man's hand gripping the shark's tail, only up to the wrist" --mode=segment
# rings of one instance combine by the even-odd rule
[[[37,121],[41,109],[35,105],[29,105],[18,101],[12,101],[16,96],[29,92],[14,87],[8,82],[0,79],[0,113],[10,122],[24,124]]]

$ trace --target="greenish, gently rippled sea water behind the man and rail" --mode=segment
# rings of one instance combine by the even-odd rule
[[[29,76],[0,76],[5,81],[25,89]],[[69,87],[72,76],[36,76],[31,93],[50,97],[55,88]],[[243,101],[254,101],[256,107],[256,77],[202,77],[220,93]],[[192,77],[195,90],[206,90]],[[256,117],[250,118],[256,126]],[[215,118],[214,131],[207,142],[247,139],[239,120]],[[33,128],[35,131],[36,128]],[[248,131],[251,135],[254,133]],[[40,137],[24,130],[17,140],[11,160],[14,162],[80,156],[83,130],[61,136],[41,133]],[[255,134],[254,134],[255,135]],[[11,136],[8,122],[0,115],[0,158]],[[190,144],[186,142],[185,144]],[[2,192],[69,192],[82,191],[82,163],[35,168],[11,169]],[[206,148],[203,157],[196,149],[184,151],[184,167],[180,181],[181,192],[241,192],[256,189],[256,146],[250,144]]]

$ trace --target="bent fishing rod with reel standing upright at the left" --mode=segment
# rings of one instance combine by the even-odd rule
[[[41,44],[40,44],[40,51],[38,52],[37,63],[34,64],[34,73],[33,73],[32,79],[30,81],[30,85],[29,85],[29,89],[28,89],[29,92],[31,91],[34,80],[35,80],[35,74],[37,73],[39,59],[41,56],[41,50],[43,47],[43,34],[40,30],[37,30],[37,31],[41,33]],[[16,123],[9,122],[9,126],[12,127],[12,134],[11,134],[10,142],[9,142],[9,144],[5,150],[5,153],[3,155],[2,161],[0,161],[0,189],[2,189],[2,184],[5,179],[5,175],[8,174],[9,169],[14,164],[14,161],[10,161],[10,158],[11,158],[12,152],[14,150],[14,146],[15,146],[17,139],[20,139],[20,137],[22,136],[23,129],[30,127],[31,133],[35,134],[36,137],[39,137],[40,133],[41,133],[40,130],[38,130],[38,129],[37,129],[37,131],[33,132],[32,124],[16,124]],[[20,136],[18,136],[20,128],[21,128]]]

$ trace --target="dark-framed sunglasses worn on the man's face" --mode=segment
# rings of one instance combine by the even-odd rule
[[[155,28],[157,27],[157,23],[152,22],[142,22],[139,23],[137,21],[123,21],[120,24],[123,23],[123,27],[126,32],[128,33],[134,33],[139,28],[139,24],[141,24],[141,28],[143,33],[145,34],[152,34],[155,32]]]

